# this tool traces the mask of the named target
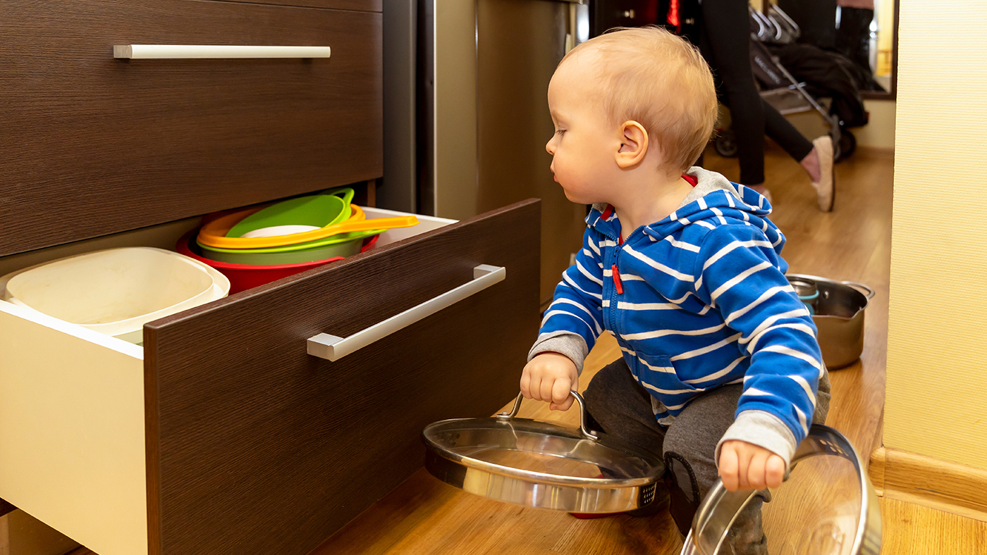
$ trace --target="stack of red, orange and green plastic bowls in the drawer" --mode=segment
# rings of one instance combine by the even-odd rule
[[[372,248],[391,228],[418,224],[414,216],[367,220],[340,187],[262,207],[217,213],[177,245],[182,254],[222,272],[230,293],[305,271]]]

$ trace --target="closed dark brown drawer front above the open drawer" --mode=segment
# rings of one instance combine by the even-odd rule
[[[7,0],[0,255],[382,174],[382,16],[186,0]],[[116,44],[330,46],[118,60]]]

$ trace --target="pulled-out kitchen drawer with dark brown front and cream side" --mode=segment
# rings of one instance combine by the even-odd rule
[[[0,303],[0,497],[100,555],[308,553],[420,467],[426,424],[517,392],[539,202],[446,222],[150,322],[143,348]],[[482,264],[503,281],[335,362],[308,354]]]

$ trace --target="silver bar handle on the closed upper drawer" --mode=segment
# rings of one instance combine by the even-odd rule
[[[328,58],[329,46],[208,46],[192,44],[117,44],[114,58]]]

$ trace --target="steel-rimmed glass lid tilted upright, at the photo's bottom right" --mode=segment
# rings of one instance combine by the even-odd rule
[[[787,490],[790,483],[797,478],[796,465],[807,458],[826,456],[841,457],[844,461],[849,461],[846,466],[852,468],[843,471],[844,477],[856,482],[859,487],[857,499],[850,503],[849,508],[839,509],[835,506],[841,502],[834,499],[836,489],[833,486],[831,477],[822,479],[820,476],[809,476],[808,483],[804,484],[811,493],[816,494],[815,499],[798,496],[794,490]],[[806,470],[813,462],[805,462]],[[814,470],[814,468],[812,469]],[[682,548],[682,555],[714,555],[718,553],[724,537],[737,514],[754,497],[756,492],[750,490],[740,490],[728,492],[720,481],[718,481],[700,504],[699,511],[692,522],[692,529],[686,537],[685,546]],[[796,515],[790,515],[788,526],[781,530],[785,535],[783,538],[784,548],[772,549],[772,531],[769,530],[768,510],[772,505],[777,505],[779,498],[787,495],[797,496]],[[877,503],[877,496],[873,491],[871,480],[868,479],[864,462],[854,449],[853,445],[839,432],[832,428],[820,425],[813,425],[808,436],[798,446],[795,456],[792,459],[792,475],[777,492],[775,500],[763,506],[765,513],[765,531],[769,540],[769,553],[773,555],[877,555],[880,552],[881,527],[880,527],[880,505]],[[846,500],[843,500],[846,505]],[[834,506],[836,511],[846,511],[835,520],[818,522],[811,520],[813,512],[820,507],[830,509]],[[789,508],[792,510],[792,508]],[[776,530],[777,532],[778,530]],[[795,540],[795,541],[791,541]]]

